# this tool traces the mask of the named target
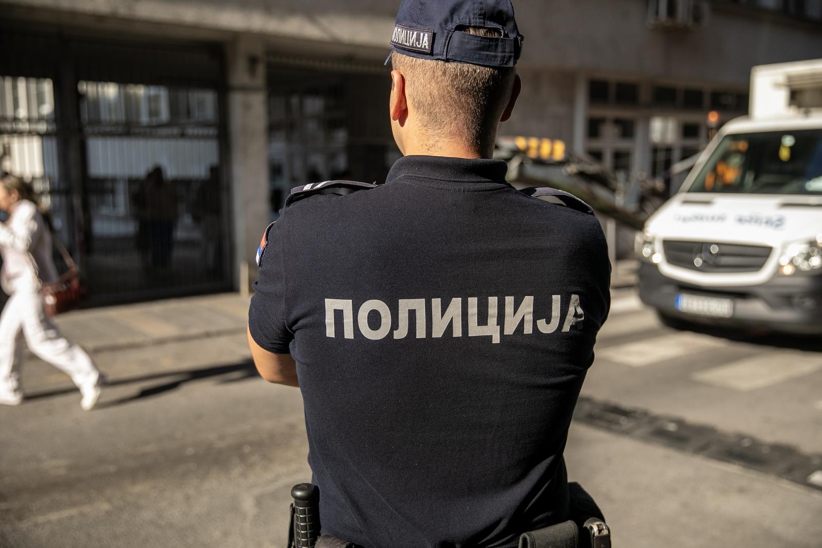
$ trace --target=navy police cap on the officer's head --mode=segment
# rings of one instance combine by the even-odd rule
[[[466,27],[498,35],[470,35]],[[391,49],[415,58],[514,67],[523,41],[510,0],[402,0]]]

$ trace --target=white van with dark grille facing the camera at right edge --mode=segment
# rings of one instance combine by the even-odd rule
[[[637,235],[640,298],[672,325],[822,334],[822,60],[755,67],[751,107]]]

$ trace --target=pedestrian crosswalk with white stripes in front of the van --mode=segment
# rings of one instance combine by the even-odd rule
[[[611,310],[595,349],[598,362],[637,370],[679,368],[690,381],[737,392],[810,375],[822,380],[822,347],[802,351],[732,341],[719,330],[716,335],[676,331],[663,326],[632,292],[615,296]]]

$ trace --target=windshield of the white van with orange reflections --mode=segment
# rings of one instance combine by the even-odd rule
[[[725,136],[688,191],[822,194],[822,129]]]

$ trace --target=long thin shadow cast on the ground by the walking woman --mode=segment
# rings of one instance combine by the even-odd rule
[[[127,377],[118,380],[109,380],[106,386],[127,386],[136,383],[150,382],[152,380],[170,380],[160,385],[150,386],[141,389],[140,392],[126,398],[119,398],[106,402],[101,402],[97,408],[111,408],[123,403],[134,402],[143,398],[151,398],[159,394],[164,394],[172,390],[178,389],[180,386],[195,380],[214,379],[215,377],[226,376],[228,378],[220,380],[220,384],[229,384],[239,382],[241,380],[259,379],[254,364],[251,361],[244,361],[238,364],[231,364],[226,366],[205,367],[204,369],[193,369],[188,371],[168,371],[164,373],[155,373],[151,375],[141,375]],[[63,388],[56,390],[48,390],[46,392],[39,392],[35,394],[26,394],[26,400],[53,398],[62,396],[64,394],[72,394],[76,392],[75,387]]]

